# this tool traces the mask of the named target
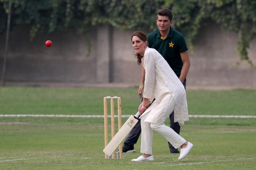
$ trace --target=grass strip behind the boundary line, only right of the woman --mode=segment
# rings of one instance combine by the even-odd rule
[[[189,114],[256,115],[256,90],[187,90]]]

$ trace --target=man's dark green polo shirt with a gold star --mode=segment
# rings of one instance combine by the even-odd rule
[[[183,62],[180,53],[188,51],[184,36],[170,27],[169,35],[163,39],[159,30],[148,34],[148,47],[155,48],[167,61],[177,76],[180,76]]]

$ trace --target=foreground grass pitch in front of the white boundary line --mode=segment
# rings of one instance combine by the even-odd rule
[[[180,135],[189,139],[194,147],[182,161],[177,160],[179,154],[168,153],[164,137],[154,133],[155,161],[137,163],[131,162],[131,159],[140,156],[140,140],[135,145],[137,152],[124,153],[125,159],[104,159],[102,122],[103,119],[99,118],[82,121],[79,119],[74,122],[68,122],[66,118],[36,122],[20,118],[20,122],[2,123],[0,168],[170,169],[174,166],[176,169],[249,169],[255,167],[256,128],[252,126],[184,125]]]

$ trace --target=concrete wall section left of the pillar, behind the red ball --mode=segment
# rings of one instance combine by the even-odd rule
[[[87,36],[67,33],[39,34],[29,40],[29,27],[20,26],[10,32],[6,82],[88,82],[96,81],[96,39],[89,34],[92,50],[86,56]],[[2,75],[5,35],[0,36]],[[45,46],[51,40],[52,47]]]

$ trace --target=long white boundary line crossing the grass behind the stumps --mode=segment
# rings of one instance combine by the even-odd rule
[[[104,115],[0,115],[0,117],[72,117],[72,118],[103,118]],[[110,115],[108,115],[110,117]],[[115,115],[117,117],[117,115]],[[130,115],[122,115],[122,117],[130,117]],[[256,118],[256,116],[248,115],[189,115],[189,117],[197,118]]]

